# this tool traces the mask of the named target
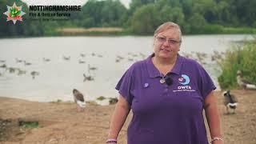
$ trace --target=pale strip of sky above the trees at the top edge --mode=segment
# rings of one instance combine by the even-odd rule
[[[119,0],[124,6],[128,7],[131,0]],[[87,0],[22,0],[30,5],[84,5]]]

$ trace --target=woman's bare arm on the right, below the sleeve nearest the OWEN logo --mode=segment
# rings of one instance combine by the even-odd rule
[[[222,138],[220,116],[218,114],[218,107],[214,96],[214,91],[206,96],[204,102],[204,109],[206,111],[206,118],[210,129],[210,137]],[[223,144],[222,140],[214,140],[213,144]]]

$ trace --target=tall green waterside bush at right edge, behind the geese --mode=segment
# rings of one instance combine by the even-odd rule
[[[242,45],[234,45],[226,51],[225,59],[219,62],[222,74],[218,77],[218,83],[222,89],[230,89],[238,86],[236,73],[242,70],[246,79],[256,83],[256,38],[246,41]]]

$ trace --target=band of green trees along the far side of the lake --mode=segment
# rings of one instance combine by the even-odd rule
[[[251,0],[132,0],[127,9],[118,0],[89,0],[67,21],[33,21],[25,3],[0,0],[0,12],[16,2],[27,12],[24,22],[0,22],[0,37],[56,34],[63,27],[122,27],[130,34],[153,34],[162,22],[177,22],[184,34],[253,33],[256,1]]]

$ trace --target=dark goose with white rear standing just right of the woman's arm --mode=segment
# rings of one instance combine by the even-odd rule
[[[234,96],[234,94],[230,94],[230,90],[224,91],[223,94],[224,96],[224,105],[226,106],[226,112],[229,114],[229,109],[233,109],[233,114],[234,110],[238,106],[238,99]]]

